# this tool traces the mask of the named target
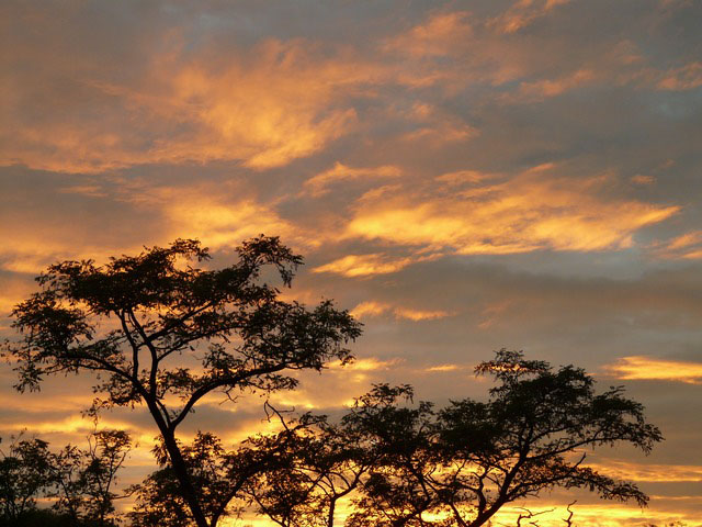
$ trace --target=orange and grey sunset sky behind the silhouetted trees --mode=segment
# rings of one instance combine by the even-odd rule
[[[280,404],[484,397],[473,368],[502,347],[574,363],[666,437],[588,458],[648,508],[582,494],[574,520],[702,525],[700,20],[694,0],[4,0],[0,337],[53,262],[195,237],[224,267],[278,235],[306,262],[287,298],[364,324],[355,365]],[[0,436],[84,440],[90,379],[0,378]],[[219,403],[185,433],[265,426],[260,400]],[[127,482],[152,468],[143,411],[102,426],[140,440]],[[529,506],[563,525],[570,501]]]

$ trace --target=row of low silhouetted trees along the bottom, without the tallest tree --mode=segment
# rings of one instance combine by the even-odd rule
[[[378,384],[338,421],[267,404],[274,434],[231,450],[210,433],[179,444],[208,525],[246,511],[281,527],[335,527],[338,505],[348,498],[347,527],[477,527],[506,504],[554,487],[646,504],[636,485],[595,471],[579,453],[622,441],[648,451],[660,439],[621,388],[596,394],[579,368],[554,370],[506,350],[477,372],[497,380],[485,402],[435,408],[414,402],[409,385]],[[95,433],[86,451],[69,446],[52,453],[38,439],[13,442],[0,464],[7,525],[33,525],[46,514],[36,512],[36,496],[54,500],[56,525],[196,525],[162,441],[154,449],[159,469],[125,490],[134,507],[117,516],[115,476],[129,448],[123,431]]]

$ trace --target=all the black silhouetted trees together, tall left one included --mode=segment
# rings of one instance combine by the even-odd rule
[[[347,345],[361,334],[332,302],[314,309],[285,302],[262,279],[270,267],[290,287],[302,264],[278,238],[245,242],[237,255],[229,267],[203,269],[196,266],[204,267],[208,250],[178,239],[103,266],[64,261],[39,276],[41,291],[13,312],[22,339],[5,343],[4,352],[15,362],[19,390],[87,371],[98,394],[89,413],[148,408],[159,469],[129,491],[135,527],[215,527],[244,509],[281,527],[333,527],[341,501],[353,505],[347,527],[479,527],[506,504],[555,487],[646,504],[635,484],[588,467],[582,453],[622,442],[650,451],[663,437],[643,406],[622,386],[597,393],[580,368],[553,368],[506,349],[476,367],[495,381],[484,401],[437,408],[414,403],[409,385],[377,384],[339,419],[293,416],[267,402],[279,431],[233,449],[208,431],[183,442],[178,428],[205,395],[217,391],[234,401],[241,391],[294,389],[296,370],[352,360]],[[80,481],[93,482],[91,500],[71,493],[77,458],[70,447],[64,451],[60,512],[77,517],[82,507],[91,518],[110,518],[109,482],[128,446],[115,434],[95,439],[104,462],[81,469]],[[27,459],[46,450],[41,441],[24,447]],[[35,483],[8,486],[20,496],[13,503],[31,504]]]

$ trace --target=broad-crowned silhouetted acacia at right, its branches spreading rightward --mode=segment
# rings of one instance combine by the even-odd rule
[[[411,391],[387,385],[359,400],[344,423],[378,461],[347,525],[478,527],[507,503],[557,486],[647,503],[635,484],[585,464],[587,448],[625,442],[647,453],[663,439],[623,388],[596,394],[580,368],[554,371],[505,349],[476,372],[498,381],[487,402],[408,406],[400,403]]]

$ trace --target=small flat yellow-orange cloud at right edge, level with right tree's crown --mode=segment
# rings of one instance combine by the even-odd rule
[[[623,357],[604,371],[622,380],[676,381],[690,384],[702,383],[702,363],[650,357]]]

